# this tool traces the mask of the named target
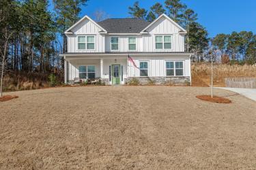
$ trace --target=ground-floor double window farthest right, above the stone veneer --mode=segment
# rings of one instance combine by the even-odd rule
[[[166,75],[167,76],[183,76],[183,61],[167,61]]]

